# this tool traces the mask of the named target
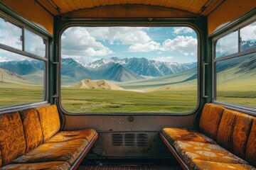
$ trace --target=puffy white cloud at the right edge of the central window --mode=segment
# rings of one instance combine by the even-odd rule
[[[167,39],[160,48],[163,52],[177,52],[184,56],[197,54],[197,40],[192,36],[177,36],[173,40]]]

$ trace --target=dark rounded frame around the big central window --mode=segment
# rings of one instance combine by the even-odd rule
[[[88,20],[90,21],[90,20]],[[65,111],[65,109],[63,108],[62,104],[61,104],[61,35],[63,35],[63,33],[65,32],[65,30],[67,30],[70,27],[78,27],[78,26],[85,26],[85,27],[104,27],[104,26],[169,26],[169,27],[182,27],[182,26],[186,26],[188,28],[193,29],[196,32],[197,35],[197,40],[198,40],[198,45],[197,45],[197,73],[198,73],[198,78],[197,78],[197,103],[195,108],[193,109],[193,111],[189,112],[189,113],[70,113],[68,111]],[[201,42],[202,42],[202,33],[198,30],[198,28],[196,26],[194,26],[192,23],[171,23],[170,21],[167,21],[165,23],[144,23],[143,21],[134,21],[129,23],[129,21],[126,21],[125,23],[119,23],[119,22],[115,22],[115,21],[107,21],[107,23],[70,23],[67,24],[65,26],[63,26],[62,28],[60,28],[60,31],[58,33],[58,77],[57,77],[57,84],[56,84],[56,89],[58,91],[58,94],[56,94],[56,96],[58,96],[59,101],[58,101],[58,107],[60,108],[60,111],[65,114],[65,115],[180,115],[180,116],[186,116],[186,115],[192,115],[194,113],[197,113],[198,109],[201,106],[201,102],[202,102],[202,89],[201,89],[201,81],[203,80],[201,74],[203,72],[201,72],[201,57],[202,57],[202,52],[201,50],[203,49],[201,47]]]

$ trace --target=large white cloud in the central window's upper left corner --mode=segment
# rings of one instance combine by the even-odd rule
[[[77,56],[105,56],[112,54],[112,50],[97,42],[86,28],[68,28],[62,37],[62,55]]]

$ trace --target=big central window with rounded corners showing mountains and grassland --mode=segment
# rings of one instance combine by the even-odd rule
[[[190,113],[198,39],[188,27],[70,27],[61,35],[68,113]]]

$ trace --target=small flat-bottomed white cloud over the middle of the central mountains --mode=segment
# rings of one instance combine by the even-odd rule
[[[134,44],[129,46],[129,52],[151,52],[154,50],[159,50],[160,44],[155,41],[149,41],[143,44]]]

